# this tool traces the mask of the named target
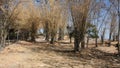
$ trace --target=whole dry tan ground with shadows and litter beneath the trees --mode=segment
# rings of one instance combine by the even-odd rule
[[[66,41],[55,45],[19,41],[0,52],[0,68],[120,68],[114,46],[89,46],[74,53],[73,44]]]

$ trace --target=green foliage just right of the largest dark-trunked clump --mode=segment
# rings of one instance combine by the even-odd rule
[[[91,23],[87,23],[87,34],[91,38],[99,38],[96,26]]]

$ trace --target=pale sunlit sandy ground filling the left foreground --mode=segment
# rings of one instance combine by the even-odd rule
[[[47,45],[23,43],[10,45],[0,53],[0,68],[84,68],[83,62],[46,50]]]

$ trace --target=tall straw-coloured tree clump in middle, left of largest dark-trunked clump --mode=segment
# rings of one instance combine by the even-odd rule
[[[62,4],[61,4],[62,3]],[[56,0],[50,0],[45,1],[45,6],[43,6],[43,18],[45,23],[44,24],[44,30],[46,33],[46,40],[50,39],[50,43],[53,44],[56,39],[57,31],[60,29],[59,33],[59,39],[61,39],[61,35],[64,34],[64,28],[66,26],[66,19],[65,13],[66,8],[63,8],[63,3],[61,1]],[[48,6],[49,5],[49,6]],[[64,4],[65,7],[65,4]],[[54,14],[56,13],[56,14]],[[47,26],[47,27],[46,27]],[[63,32],[63,33],[62,33]]]

